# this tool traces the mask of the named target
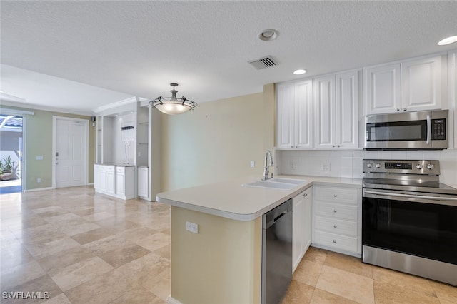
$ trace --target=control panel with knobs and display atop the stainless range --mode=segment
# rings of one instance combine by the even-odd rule
[[[439,161],[364,159],[363,173],[411,173],[439,175]]]

